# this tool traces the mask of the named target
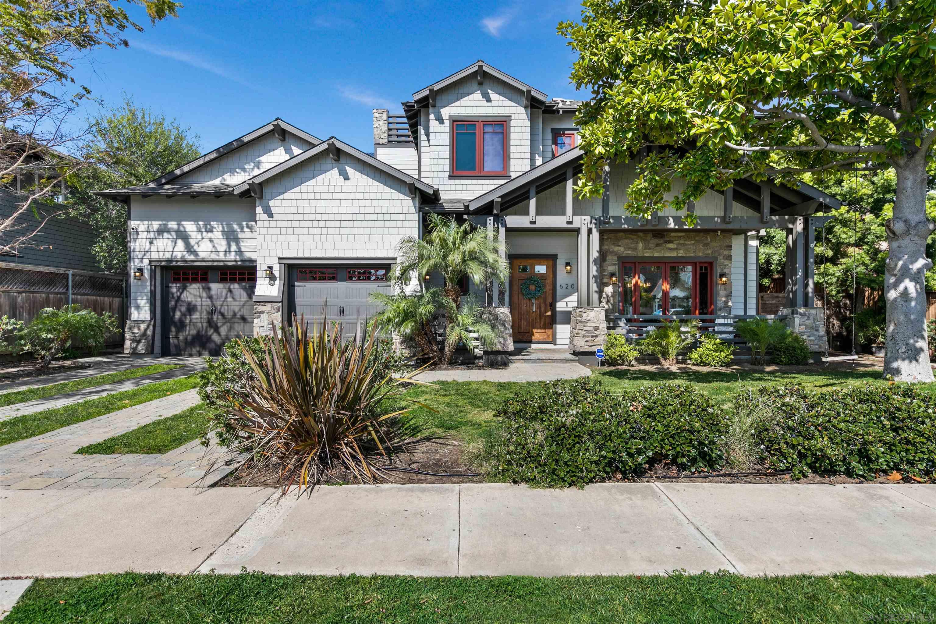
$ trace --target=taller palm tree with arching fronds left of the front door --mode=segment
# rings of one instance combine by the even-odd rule
[[[408,236],[397,246],[400,262],[395,276],[408,283],[416,275],[439,273],[445,283],[443,295],[460,309],[461,278],[468,276],[477,285],[491,280],[505,282],[509,270],[506,249],[501,242],[488,237],[487,228],[472,227],[467,221],[461,225],[451,217],[429,215],[429,231],[424,239]]]

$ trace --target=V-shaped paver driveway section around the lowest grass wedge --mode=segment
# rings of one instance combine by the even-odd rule
[[[197,403],[197,390],[186,390],[0,446],[0,489],[210,485],[236,466],[219,462],[209,478],[201,481],[221,450],[211,447],[206,453],[197,440],[165,455],[75,454],[82,446],[178,414]]]

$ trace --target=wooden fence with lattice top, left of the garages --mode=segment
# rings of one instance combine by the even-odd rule
[[[0,262],[0,316],[29,323],[43,308],[62,308],[68,303],[116,316],[121,331],[110,337],[107,346],[124,344],[123,276]]]

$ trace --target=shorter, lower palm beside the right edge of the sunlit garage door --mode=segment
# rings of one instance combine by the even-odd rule
[[[432,317],[445,300],[438,288],[420,291],[416,295],[376,292],[371,294],[371,298],[384,306],[383,310],[373,316],[375,327],[388,327],[415,341],[421,355],[429,356],[436,362],[444,361],[432,327]]]

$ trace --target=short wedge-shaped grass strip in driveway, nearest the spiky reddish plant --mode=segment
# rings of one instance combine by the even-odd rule
[[[198,403],[179,414],[147,423],[113,438],[82,446],[75,451],[82,455],[116,455],[123,453],[168,453],[185,443],[197,440],[208,426],[206,405]]]

